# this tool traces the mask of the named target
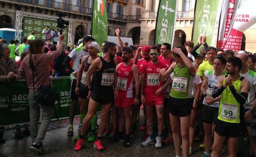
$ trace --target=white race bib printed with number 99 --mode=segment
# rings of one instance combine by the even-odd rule
[[[238,105],[223,102],[220,116],[228,120],[238,119]]]

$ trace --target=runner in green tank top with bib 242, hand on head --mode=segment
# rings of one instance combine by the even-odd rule
[[[168,102],[170,123],[176,156],[181,156],[180,126],[182,126],[182,152],[183,157],[188,157],[190,115],[194,100],[190,95],[190,90],[192,90],[197,64],[187,58],[187,50],[184,46],[178,46],[172,51],[176,63],[171,64],[168,70],[160,70],[159,81],[165,80],[174,72],[171,97]]]

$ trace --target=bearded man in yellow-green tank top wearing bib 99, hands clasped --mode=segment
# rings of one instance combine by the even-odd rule
[[[213,98],[220,97],[218,121],[216,124],[213,153],[211,157],[219,157],[224,140],[229,138],[229,157],[237,155],[237,143],[244,134],[243,104],[245,104],[249,81],[240,76],[242,61],[238,57],[230,57],[226,64],[226,76],[219,79],[213,90]]]

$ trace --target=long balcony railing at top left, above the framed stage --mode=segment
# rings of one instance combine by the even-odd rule
[[[6,0],[5,2],[13,1],[13,2],[20,2],[23,4],[32,4],[41,7],[53,8],[61,11],[70,11],[75,13],[82,13],[91,15],[91,8],[88,7],[81,7],[78,5],[57,2],[56,0]]]

